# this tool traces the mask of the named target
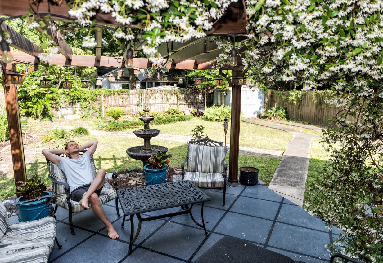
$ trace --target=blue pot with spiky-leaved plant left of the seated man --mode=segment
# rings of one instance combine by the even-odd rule
[[[49,216],[49,210],[52,209],[52,206],[48,206],[47,198],[40,197],[52,196],[52,193],[45,191],[46,186],[44,182],[41,182],[38,174],[34,174],[30,179],[27,178],[25,182],[19,181],[17,183],[19,185],[16,188],[20,190],[21,194],[15,201],[19,211],[19,222],[27,222]]]

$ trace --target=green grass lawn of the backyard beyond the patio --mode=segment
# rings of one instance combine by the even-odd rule
[[[170,135],[185,135],[190,136],[190,131],[195,125],[202,125],[205,127],[205,132],[209,138],[216,141],[224,141],[224,130],[222,123],[208,122],[197,118],[194,118],[185,122],[172,123],[167,125],[151,125],[151,128],[161,130],[162,134]],[[29,121],[28,130],[29,134],[34,132],[44,132],[46,135],[51,135],[55,128],[63,128],[69,130],[75,127],[91,127],[91,120],[56,120],[49,121]],[[229,125],[230,127],[230,125]],[[94,127],[92,128],[95,129]],[[98,140],[97,151],[94,155],[95,164],[98,167],[102,167],[106,170],[115,170],[134,167],[142,167],[141,161],[131,159],[126,154],[126,149],[132,146],[142,145],[143,140],[141,138],[131,138],[126,136],[126,133],[133,133],[134,129],[126,130],[123,132],[98,132],[97,134],[90,134],[88,136],[75,137],[74,140],[80,144],[85,143],[92,139]],[[102,133],[102,134],[101,134]],[[288,143],[291,140],[291,133],[286,133],[281,130],[267,128],[252,123],[241,122],[240,132],[240,146],[249,146],[260,149],[273,149],[273,150],[285,150]],[[54,148],[56,145],[64,144],[63,141],[56,141],[55,143],[35,143],[34,145],[25,145],[25,149],[28,148]],[[227,133],[227,143],[230,142],[230,130]],[[180,166],[181,162],[185,159],[186,155],[186,143],[172,140],[159,140],[152,138],[152,144],[162,145],[169,149],[169,153],[173,154],[170,165]],[[10,154],[10,153],[9,153]],[[229,163],[229,154],[226,157],[226,162]],[[268,158],[258,157],[240,154],[239,155],[239,167],[241,166],[255,166],[260,169],[259,177],[265,183],[269,183],[275,170],[278,167],[280,158]],[[48,169],[44,156],[41,151],[38,151],[33,161],[27,164],[27,174],[31,175],[38,173],[42,180],[46,182],[46,185],[51,185],[50,180],[47,177]],[[13,174],[12,174],[13,175]],[[0,179],[1,191],[0,199],[12,196],[15,193],[15,182],[12,178],[3,177]]]

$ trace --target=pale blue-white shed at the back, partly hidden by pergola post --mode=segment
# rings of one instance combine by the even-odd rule
[[[213,104],[231,107],[231,88],[214,89]],[[265,94],[263,90],[241,88],[241,111],[245,118],[258,118],[259,114],[264,112],[264,107]]]

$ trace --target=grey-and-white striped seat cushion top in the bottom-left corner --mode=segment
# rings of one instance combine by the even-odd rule
[[[0,240],[0,255],[7,255],[8,257],[8,254],[11,253],[39,247],[48,247],[49,253],[52,251],[55,236],[56,219],[52,216],[11,224],[8,226],[7,233]],[[9,261],[7,260],[7,262]]]

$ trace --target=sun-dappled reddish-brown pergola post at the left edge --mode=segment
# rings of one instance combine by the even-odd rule
[[[15,64],[7,64],[4,68],[5,70],[3,73],[3,88],[5,97],[5,107],[7,109],[13,172],[15,174],[15,187],[17,187],[16,182],[25,181],[26,179],[26,167],[24,158],[23,135],[21,133],[17,89],[15,84],[11,84],[11,76],[9,75],[9,73],[15,72],[16,68]]]

